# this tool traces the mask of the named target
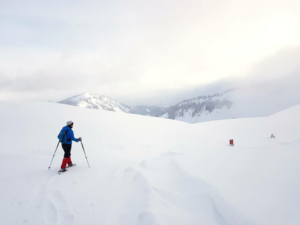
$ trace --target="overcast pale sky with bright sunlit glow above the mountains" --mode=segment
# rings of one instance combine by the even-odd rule
[[[0,0],[0,100],[168,106],[284,76],[299,65],[299,2]]]

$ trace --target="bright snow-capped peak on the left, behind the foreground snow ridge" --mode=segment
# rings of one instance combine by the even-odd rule
[[[57,103],[79,106],[90,109],[109,110],[128,113],[131,107],[111,99],[105,95],[95,95],[91,93],[82,93],[75,95]]]

